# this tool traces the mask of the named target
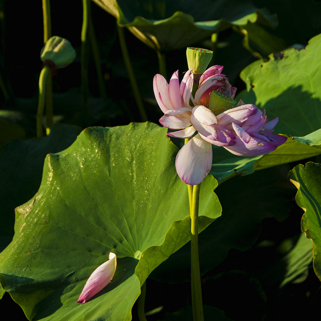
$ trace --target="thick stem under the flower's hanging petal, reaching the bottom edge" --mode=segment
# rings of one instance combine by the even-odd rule
[[[194,321],[204,321],[201,274],[198,256],[198,204],[201,184],[194,185],[191,215],[191,280],[192,280],[192,301]],[[194,292],[194,293],[193,293]]]

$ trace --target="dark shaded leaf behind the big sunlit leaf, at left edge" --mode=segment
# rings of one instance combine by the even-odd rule
[[[46,155],[69,147],[80,132],[78,126],[59,124],[52,127],[49,136],[1,146],[0,251],[12,240],[15,207],[27,202],[39,188]]]

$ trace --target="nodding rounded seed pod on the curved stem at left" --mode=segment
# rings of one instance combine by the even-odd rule
[[[67,39],[58,36],[48,39],[40,52],[40,59],[42,61],[52,61],[57,69],[70,65],[74,62],[75,58],[76,51],[71,43]]]

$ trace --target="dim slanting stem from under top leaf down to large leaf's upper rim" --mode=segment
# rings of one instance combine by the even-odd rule
[[[124,61],[125,61],[125,65],[126,65],[129,81],[130,81],[130,84],[131,84],[133,92],[134,92],[134,98],[135,98],[136,104],[138,106],[138,111],[139,111],[139,114],[140,114],[143,122],[145,122],[145,121],[147,121],[147,115],[146,115],[146,112],[145,112],[145,109],[144,109],[142,97],[141,97],[141,95],[139,93],[139,90],[138,90],[138,86],[137,86],[137,82],[136,82],[133,66],[132,66],[132,63],[130,62],[130,59],[129,59],[129,54],[128,54],[128,49],[127,49],[127,45],[126,45],[124,29],[117,25],[117,31],[118,31],[118,38],[119,38],[120,48],[121,48],[121,51],[122,51],[122,54],[123,54],[123,58],[124,58]]]

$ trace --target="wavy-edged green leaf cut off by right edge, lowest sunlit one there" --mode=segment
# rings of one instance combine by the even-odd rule
[[[313,268],[321,280],[321,165],[312,162],[305,166],[299,164],[289,175],[298,188],[295,200],[305,212],[301,230],[312,240]]]

